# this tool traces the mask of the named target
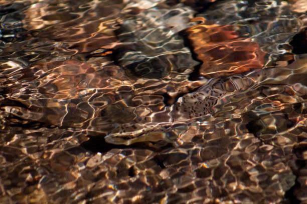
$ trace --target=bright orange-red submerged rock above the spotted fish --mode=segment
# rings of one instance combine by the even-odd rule
[[[263,67],[265,52],[250,38],[239,36],[234,26],[212,24],[202,17],[194,21],[203,22],[186,32],[197,58],[203,61],[201,75],[211,78]]]

